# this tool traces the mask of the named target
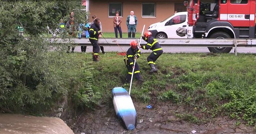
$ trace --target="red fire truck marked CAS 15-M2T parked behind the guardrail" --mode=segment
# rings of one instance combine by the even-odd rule
[[[188,38],[255,38],[255,0],[190,0]],[[228,53],[232,47],[208,47]]]

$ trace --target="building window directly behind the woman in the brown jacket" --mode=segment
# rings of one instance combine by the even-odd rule
[[[116,16],[116,11],[123,16],[123,3],[108,3],[108,17]]]

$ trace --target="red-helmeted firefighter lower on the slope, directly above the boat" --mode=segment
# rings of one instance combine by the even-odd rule
[[[126,82],[129,83],[132,78],[132,69],[134,68],[134,75],[135,78],[142,83],[143,80],[140,75],[140,66],[136,62],[134,66],[134,59],[138,59],[140,57],[140,49],[137,47],[137,42],[132,41],[130,43],[131,47],[127,50],[125,56],[124,56],[124,63],[128,69],[128,74],[126,75]]]

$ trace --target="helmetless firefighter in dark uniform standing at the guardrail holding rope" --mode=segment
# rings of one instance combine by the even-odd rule
[[[92,43],[92,61],[99,61],[100,46],[98,45],[98,39],[101,38],[100,31],[100,19],[95,19],[95,23],[92,24],[89,29],[89,40]]]

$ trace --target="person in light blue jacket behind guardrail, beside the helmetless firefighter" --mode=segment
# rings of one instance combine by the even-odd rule
[[[90,29],[89,24],[86,23],[85,21],[82,22],[79,25],[79,34],[78,34],[79,39],[81,39],[82,37],[89,38],[89,32],[88,32],[89,29]],[[81,46],[81,51],[85,52],[86,51],[86,47],[87,46]]]

